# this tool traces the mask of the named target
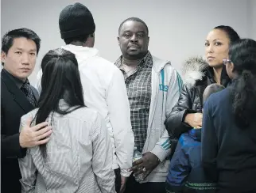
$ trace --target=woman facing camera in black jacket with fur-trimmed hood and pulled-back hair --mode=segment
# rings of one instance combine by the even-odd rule
[[[213,28],[205,40],[205,58],[185,62],[183,67],[184,87],[172,112],[165,120],[165,127],[172,140],[172,153],[180,134],[193,128],[202,127],[204,89],[213,83],[227,87],[230,78],[223,67],[229,46],[239,40],[239,35],[230,26],[219,25]]]

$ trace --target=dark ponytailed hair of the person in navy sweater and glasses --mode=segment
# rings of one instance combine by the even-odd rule
[[[235,121],[241,128],[249,127],[256,113],[256,41],[235,42],[230,47],[229,58],[238,73],[232,92]]]

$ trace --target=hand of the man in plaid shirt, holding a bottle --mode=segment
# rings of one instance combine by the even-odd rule
[[[157,165],[159,165],[159,163],[160,160],[155,154],[147,152],[143,154],[141,159],[139,159],[138,161],[134,161],[133,167],[129,170],[134,172],[134,176],[138,176],[139,174],[144,173],[145,179],[147,176],[149,176],[154,168],[157,168]]]

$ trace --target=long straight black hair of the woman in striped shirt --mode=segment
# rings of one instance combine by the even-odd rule
[[[48,51],[42,59],[41,68],[43,75],[36,124],[45,122],[50,113],[66,115],[85,106],[80,72],[74,54],[64,49]],[[60,99],[64,99],[68,108],[60,108]],[[40,149],[46,157],[46,145],[41,145]]]

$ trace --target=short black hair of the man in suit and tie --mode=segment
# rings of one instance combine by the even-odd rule
[[[26,39],[33,40],[37,46],[37,55],[40,50],[41,39],[37,36],[37,33],[33,32],[29,28],[17,28],[14,30],[10,30],[6,32],[4,36],[2,36],[2,51],[8,54],[10,47],[14,44],[14,39],[19,37],[25,37]],[[2,62],[2,65],[4,63]]]

